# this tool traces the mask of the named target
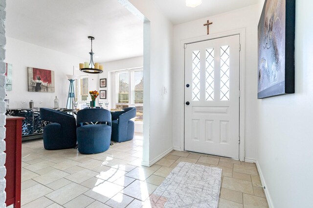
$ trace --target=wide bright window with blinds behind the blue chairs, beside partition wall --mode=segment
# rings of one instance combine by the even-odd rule
[[[116,108],[136,107],[135,121],[143,118],[143,69],[130,69],[115,72]]]

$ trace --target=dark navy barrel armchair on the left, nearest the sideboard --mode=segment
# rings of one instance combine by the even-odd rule
[[[44,147],[47,150],[69,149],[76,146],[74,116],[48,108],[40,108],[42,120],[52,122],[44,127]]]

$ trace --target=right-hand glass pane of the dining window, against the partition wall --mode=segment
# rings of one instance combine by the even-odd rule
[[[132,73],[132,103],[143,104],[143,70]]]

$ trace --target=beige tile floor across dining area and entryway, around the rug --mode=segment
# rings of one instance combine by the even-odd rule
[[[45,150],[43,140],[22,143],[22,208],[140,208],[179,162],[223,169],[219,208],[268,208],[254,163],[172,151],[141,166],[142,135],[104,153]],[[12,207],[12,206],[9,206]]]

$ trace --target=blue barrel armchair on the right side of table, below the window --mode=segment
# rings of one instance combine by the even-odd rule
[[[123,142],[134,139],[134,121],[136,108],[124,108],[124,111],[112,113],[112,141]]]

